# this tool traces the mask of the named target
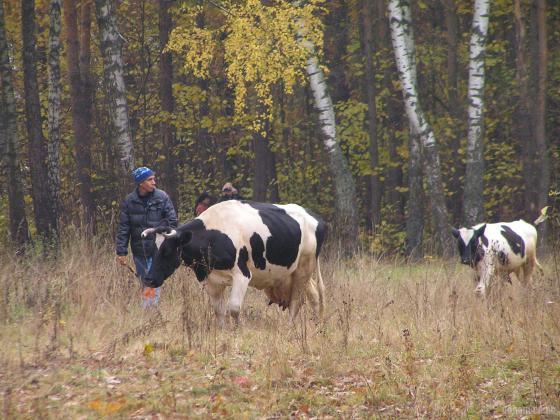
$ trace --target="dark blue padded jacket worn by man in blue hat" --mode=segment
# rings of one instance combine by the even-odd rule
[[[140,234],[144,229],[159,226],[164,219],[167,219],[170,227],[177,227],[177,214],[165,191],[156,188],[146,200],[138,195],[138,188],[128,194],[119,214],[117,255],[128,254],[130,241],[133,255],[153,256],[156,250],[154,238],[142,239]]]

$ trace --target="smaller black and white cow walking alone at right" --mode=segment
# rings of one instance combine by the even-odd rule
[[[529,284],[537,261],[537,230],[523,220],[509,223],[483,223],[452,230],[463,264],[475,270],[476,293],[484,295],[496,276],[515,273]]]

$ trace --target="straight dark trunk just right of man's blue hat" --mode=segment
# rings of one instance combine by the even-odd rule
[[[175,162],[175,133],[173,126],[169,122],[173,114],[173,56],[169,52],[163,52],[163,49],[169,41],[169,33],[173,26],[171,15],[169,14],[169,6],[171,1],[158,0],[159,11],[159,100],[161,108],[166,118],[160,125],[161,139],[163,142],[163,150],[165,154],[165,182],[166,189],[174,203],[178,203],[177,193],[177,164]]]

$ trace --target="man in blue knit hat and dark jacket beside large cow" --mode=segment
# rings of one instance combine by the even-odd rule
[[[177,227],[177,215],[173,203],[165,191],[156,188],[154,171],[145,166],[132,171],[136,188],[124,199],[119,214],[116,248],[117,261],[127,265],[128,243],[136,266],[136,275],[143,278],[152,264],[156,253],[154,238],[143,239],[141,233],[151,227],[167,224]],[[160,290],[144,287],[143,307],[154,305],[159,300]]]

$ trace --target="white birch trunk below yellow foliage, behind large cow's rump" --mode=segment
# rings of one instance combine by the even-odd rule
[[[313,93],[315,108],[319,116],[319,126],[323,133],[323,145],[329,157],[335,187],[335,211],[337,230],[341,245],[349,254],[355,251],[358,236],[358,215],[356,212],[356,185],[348,163],[336,136],[334,106],[327,89],[325,75],[319,66],[314,45],[305,38],[303,28],[298,36],[309,51],[306,72]]]

